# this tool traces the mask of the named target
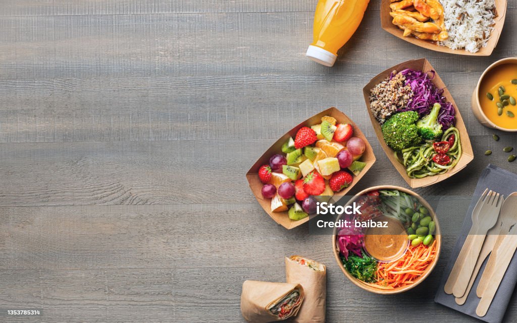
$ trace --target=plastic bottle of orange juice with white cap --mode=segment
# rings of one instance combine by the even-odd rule
[[[333,66],[338,50],[354,35],[370,0],[320,0],[314,14],[314,40],[307,57]]]

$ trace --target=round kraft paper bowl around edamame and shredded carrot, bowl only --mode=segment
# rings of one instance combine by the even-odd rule
[[[382,289],[382,288],[376,288],[376,287],[367,285],[363,281],[355,278],[343,266],[343,264],[341,263],[341,259],[339,259],[339,247],[337,244],[338,243],[338,241],[337,241],[338,228],[335,228],[334,232],[332,234],[332,250],[334,252],[334,257],[336,257],[336,262],[338,263],[339,267],[341,268],[341,270],[343,271],[345,276],[355,285],[361,287],[364,290],[368,290],[368,292],[372,292],[375,294],[382,294],[382,295],[399,294],[399,293],[407,292],[407,290],[409,290],[409,289],[415,288],[418,284],[420,284],[422,281],[424,281],[429,276],[431,271],[433,271],[434,267],[436,266],[436,263],[438,262],[438,258],[440,255],[440,250],[442,249],[442,236],[440,235],[440,224],[438,223],[438,218],[436,217],[436,214],[434,213],[433,208],[431,207],[431,205],[429,205],[429,203],[427,201],[425,201],[417,193],[410,191],[406,188],[400,187],[400,186],[382,185],[382,186],[374,186],[374,187],[364,189],[364,190],[360,191],[359,193],[357,193],[357,195],[354,198],[352,198],[350,201],[348,201],[348,203],[346,205],[353,204],[354,201],[356,201],[359,197],[366,195],[366,193],[368,193],[372,190],[381,190],[381,189],[396,189],[401,192],[407,193],[408,195],[412,195],[412,196],[416,197],[420,201],[420,203],[422,203],[422,205],[429,210],[429,215],[433,218],[433,221],[436,224],[436,232],[434,233],[434,238],[436,240],[436,257],[435,257],[434,261],[427,267],[427,269],[425,269],[425,272],[419,278],[417,278],[413,284],[408,284],[408,285],[405,285],[402,287],[397,287],[394,289]],[[341,216],[338,216],[337,220],[339,220],[340,218],[341,218]]]

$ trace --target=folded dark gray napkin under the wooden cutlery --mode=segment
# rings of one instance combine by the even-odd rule
[[[454,301],[453,295],[447,295],[444,292],[445,282],[447,281],[449,273],[454,266],[454,261],[460,253],[461,247],[465,242],[470,227],[472,227],[472,218],[470,216],[472,215],[474,206],[476,205],[485,188],[495,190],[506,197],[510,193],[517,191],[517,175],[493,165],[489,165],[481,173],[478,185],[476,186],[476,191],[474,192],[474,197],[472,202],[470,202],[467,216],[463,222],[460,237],[458,238],[458,241],[456,241],[456,245],[454,246],[449,262],[447,263],[444,276],[442,277],[442,281],[440,282],[440,286],[438,287],[438,292],[436,293],[434,301],[456,311],[465,313],[472,317],[476,317],[482,321],[489,323],[500,323],[505,316],[508,303],[510,302],[510,298],[513,294],[515,283],[517,283],[517,252],[513,255],[505,277],[503,278],[503,281],[501,282],[499,289],[495,294],[494,300],[490,305],[490,309],[485,316],[479,317],[476,315],[476,308],[479,303],[479,298],[476,296],[476,287],[479,283],[479,280],[481,279],[481,273],[483,272],[484,266],[486,265],[486,262],[488,262],[489,257],[486,258],[483,266],[479,270],[479,274],[474,285],[472,286],[472,289],[470,289],[470,293],[465,304],[458,305]]]

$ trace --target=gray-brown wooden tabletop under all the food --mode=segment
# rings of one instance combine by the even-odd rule
[[[4,0],[0,4],[0,307],[43,322],[242,322],[241,284],[282,281],[283,256],[328,266],[328,322],[477,320],[433,302],[465,214],[439,214],[439,265],[392,297],[349,283],[331,238],[273,222],[247,185],[286,129],[330,106],[371,139],[353,189],[406,186],[374,137],[361,89],[428,58],[454,96],[476,159],[430,188],[472,193],[494,163],[517,172],[470,111],[491,62],[515,56],[517,3],[491,57],[421,49],[381,29],[379,1],[333,68],[305,57],[315,0]],[[482,153],[494,150],[492,156]],[[517,299],[506,321],[517,320]]]

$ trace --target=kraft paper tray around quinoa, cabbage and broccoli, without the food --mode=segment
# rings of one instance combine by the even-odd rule
[[[372,114],[372,111],[370,110],[370,90],[377,84],[381,83],[386,77],[388,77],[392,71],[400,72],[404,69],[414,69],[419,70],[423,72],[429,72],[429,71],[435,71],[434,77],[432,79],[433,84],[438,87],[439,89],[444,89],[444,93],[442,94],[445,96],[448,102],[452,103],[454,106],[454,111],[456,112],[456,124],[455,127],[458,128],[460,132],[460,138],[461,138],[461,147],[462,147],[462,155],[460,157],[460,160],[458,161],[458,164],[454,166],[452,169],[450,169],[448,172],[434,175],[434,176],[427,176],[423,177],[421,179],[412,179],[410,178],[407,173],[405,167],[397,160],[397,157],[394,155],[393,149],[391,149],[386,142],[384,141],[383,133],[381,131],[381,125],[377,122],[375,117]],[[460,111],[458,110],[458,106],[452,99],[451,94],[449,93],[449,90],[447,90],[447,87],[442,82],[442,79],[436,72],[436,70],[431,66],[431,63],[425,59],[416,59],[416,60],[409,60],[403,63],[400,63],[396,66],[393,66],[386,71],[378,74],[372,80],[370,80],[370,83],[368,83],[363,88],[363,95],[364,95],[364,101],[366,102],[366,106],[368,109],[368,115],[370,116],[370,120],[372,121],[373,129],[375,131],[375,134],[377,135],[377,138],[379,139],[379,142],[381,142],[381,146],[384,149],[384,152],[388,156],[388,158],[391,160],[391,164],[399,171],[400,175],[403,177],[403,179],[407,182],[407,184],[412,188],[417,187],[424,187],[436,184],[438,182],[441,182],[445,179],[448,179],[450,176],[454,175],[455,173],[459,172],[465,166],[467,166],[470,161],[474,159],[474,153],[472,151],[472,146],[470,145],[470,139],[468,138],[467,129],[465,127],[465,123],[463,122],[463,119],[461,117]]]

